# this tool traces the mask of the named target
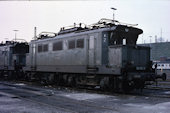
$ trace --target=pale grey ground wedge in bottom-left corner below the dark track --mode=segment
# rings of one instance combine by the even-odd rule
[[[0,96],[0,113],[67,113],[51,106]]]

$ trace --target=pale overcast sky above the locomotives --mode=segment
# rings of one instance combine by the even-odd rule
[[[155,35],[170,41],[170,1],[168,0],[94,0],[94,1],[0,1],[0,42],[17,38],[30,41],[34,27],[38,32],[58,32],[73,23],[92,24],[101,18],[112,18],[138,24],[144,33],[138,43],[155,41]]]

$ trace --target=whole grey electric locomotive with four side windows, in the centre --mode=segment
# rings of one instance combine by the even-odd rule
[[[99,86],[103,90],[142,89],[157,78],[150,61],[150,48],[137,46],[141,29],[101,19],[86,26],[42,33],[25,53],[26,80],[67,86]]]

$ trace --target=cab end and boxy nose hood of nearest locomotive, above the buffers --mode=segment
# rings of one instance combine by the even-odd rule
[[[148,67],[150,66],[150,48],[136,45],[138,36],[142,32],[141,29],[127,26],[118,26],[116,30],[109,32],[108,47],[110,51],[120,49],[120,66],[128,70],[128,72],[131,70],[150,69],[150,67]],[[113,54],[115,52],[116,51],[109,53],[115,56],[118,54]]]

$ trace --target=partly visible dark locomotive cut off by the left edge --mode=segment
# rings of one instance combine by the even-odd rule
[[[0,44],[0,78],[23,78],[22,67],[26,65],[29,46],[26,42],[6,41]]]

